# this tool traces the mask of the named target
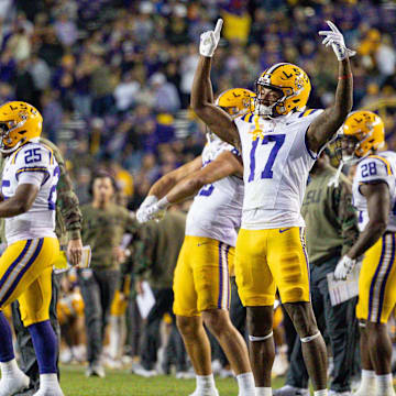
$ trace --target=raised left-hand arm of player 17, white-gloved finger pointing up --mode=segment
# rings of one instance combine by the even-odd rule
[[[197,116],[224,142],[240,148],[240,138],[232,118],[213,105],[210,81],[211,57],[220,40],[222,20],[218,20],[215,31],[201,35],[199,52],[201,54],[194,76],[191,89],[191,108]]]

